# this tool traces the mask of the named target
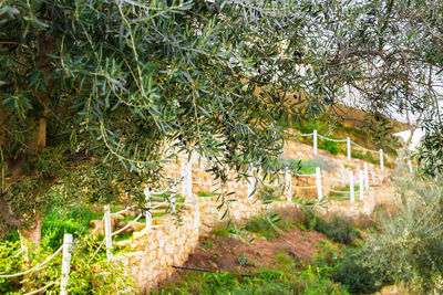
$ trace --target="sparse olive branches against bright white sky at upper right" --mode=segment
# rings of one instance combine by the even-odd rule
[[[315,60],[308,71],[326,83],[324,99],[356,101],[380,124],[369,124],[380,127],[375,135],[393,114],[432,131],[443,120],[442,28],[442,1],[315,1],[301,32],[303,54]]]

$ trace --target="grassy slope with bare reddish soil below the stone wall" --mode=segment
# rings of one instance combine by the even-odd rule
[[[215,229],[186,264],[207,272],[179,271],[152,294],[350,294],[333,274],[343,251],[359,245],[351,224],[293,210],[272,218]]]

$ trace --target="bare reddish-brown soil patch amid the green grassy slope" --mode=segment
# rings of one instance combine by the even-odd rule
[[[257,267],[272,267],[277,253],[284,252],[300,261],[318,252],[319,240],[327,238],[318,232],[303,232],[296,228],[276,240],[255,239],[243,243],[236,238],[209,235],[189,255],[185,266],[210,271],[240,272]]]

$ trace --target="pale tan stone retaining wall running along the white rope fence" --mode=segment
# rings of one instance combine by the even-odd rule
[[[327,156],[320,155],[320,157]],[[348,176],[349,169],[352,169],[354,176],[357,176],[357,170],[363,167],[363,161],[356,159],[348,161],[346,157],[328,160],[334,162],[334,168],[331,172],[323,170],[322,175],[326,177],[343,179]],[[150,288],[157,286],[159,281],[171,276],[174,272],[173,265],[183,265],[189,253],[198,245],[199,235],[216,226],[225,212],[225,208],[222,210],[217,209],[220,201],[217,200],[216,197],[197,197],[198,192],[212,192],[216,187],[214,186],[212,176],[198,170],[199,166],[195,162],[193,164],[194,200],[189,202],[190,204],[182,206],[182,225],[175,224],[174,218],[171,218],[162,228],[147,231],[145,229],[140,232],[134,232],[134,238],[127,241],[127,246],[131,246],[131,252],[114,257],[116,262],[121,262],[126,266],[127,275],[135,280],[137,287],[140,287],[143,294],[147,293]],[[179,162],[172,164],[166,170],[166,173],[169,172],[169,175],[179,173]],[[383,172],[380,172],[380,170],[374,167],[372,167],[372,170],[375,172],[370,173],[370,183],[377,183],[377,186],[383,185],[390,170],[385,169]],[[292,186],[316,186],[315,177],[292,177],[291,181]],[[358,185],[357,177],[356,185]],[[344,186],[344,183],[337,183],[328,179],[322,180],[323,191],[328,191],[330,188],[339,189]],[[249,200],[247,198],[248,188],[246,181],[229,181],[225,189],[226,191],[235,192],[229,196],[229,198],[235,199],[235,201],[228,202],[230,215],[228,215],[226,220],[231,219],[238,223],[246,221],[251,215],[259,214],[266,209],[278,210],[280,208],[296,206],[295,203],[286,201],[264,204],[256,199]],[[292,192],[303,198],[317,198],[317,189],[301,190],[293,188]],[[387,198],[389,197],[390,196],[387,196]],[[354,203],[346,201],[328,202],[327,209],[322,212],[324,214],[337,212],[352,218],[360,214],[370,214],[378,203],[387,201],[380,197],[378,188],[368,191],[364,200],[358,200],[358,193],[356,193],[356,200]]]

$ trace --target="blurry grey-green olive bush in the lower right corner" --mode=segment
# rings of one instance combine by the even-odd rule
[[[443,187],[398,179],[406,202],[365,240],[357,263],[405,283],[416,294],[443,291]],[[384,277],[385,280],[385,277]]]

